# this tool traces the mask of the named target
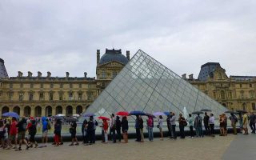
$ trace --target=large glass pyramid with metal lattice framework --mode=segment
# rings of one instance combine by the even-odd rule
[[[178,74],[142,50],[110,82],[86,113],[110,116],[118,111],[146,113],[172,111],[175,114],[210,109],[218,115],[226,108],[186,82]]]

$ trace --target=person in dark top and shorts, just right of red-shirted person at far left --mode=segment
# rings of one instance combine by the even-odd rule
[[[18,122],[17,127],[18,127],[18,142],[19,142],[19,147],[18,150],[22,150],[22,142],[26,144],[26,150],[29,149],[29,146],[26,142],[25,139],[25,134],[26,134],[26,119],[22,118],[20,122]]]

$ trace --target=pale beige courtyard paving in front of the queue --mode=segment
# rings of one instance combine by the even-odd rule
[[[249,141],[252,136],[254,135],[247,137]],[[127,144],[104,144],[97,141],[91,146],[83,146],[82,143],[79,146],[69,146],[70,142],[65,142],[63,146],[56,147],[49,143],[47,147],[30,150],[25,150],[26,146],[22,146],[22,151],[0,150],[0,159],[229,159],[229,152],[235,152],[229,148],[237,138],[244,137],[229,134],[227,137],[217,135],[216,138],[164,138],[163,141],[154,138],[154,142],[148,142],[147,139],[145,142],[134,142],[134,139],[129,139]]]

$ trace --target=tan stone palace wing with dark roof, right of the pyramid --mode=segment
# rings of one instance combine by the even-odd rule
[[[190,78],[186,78],[186,74],[182,77],[229,110],[256,110],[256,77],[228,77],[226,70],[218,63],[215,63],[214,68],[211,68],[212,66],[213,63],[203,65],[198,79],[194,79],[191,75]],[[205,72],[206,69],[209,70]]]

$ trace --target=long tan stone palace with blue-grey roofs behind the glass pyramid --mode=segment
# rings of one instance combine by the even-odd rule
[[[85,72],[77,78],[68,72],[66,77],[54,77],[50,71],[46,76],[40,71],[37,75],[18,71],[17,77],[9,77],[0,58],[0,115],[8,111],[26,117],[82,114],[130,61],[130,51],[125,56],[122,50],[106,49],[101,57],[97,50],[96,59],[96,77]],[[182,78],[228,110],[256,110],[254,76],[228,77],[219,63],[208,62],[201,66],[198,78],[193,74]]]

